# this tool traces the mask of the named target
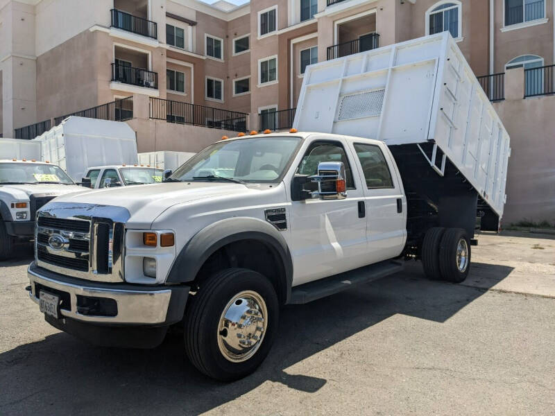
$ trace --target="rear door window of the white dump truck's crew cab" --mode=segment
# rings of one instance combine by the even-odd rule
[[[366,187],[368,189],[394,188],[391,172],[382,150],[373,144],[355,144]]]

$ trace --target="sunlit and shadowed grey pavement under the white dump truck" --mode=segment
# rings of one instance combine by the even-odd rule
[[[24,250],[0,263],[0,414],[553,415],[555,239],[486,234],[472,250],[462,285],[409,263],[286,306],[262,367],[230,384],[199,374],[178,334],[109,349],[50,327]]]

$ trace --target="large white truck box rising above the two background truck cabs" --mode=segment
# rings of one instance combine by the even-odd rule
[[[76,182],[89,166],[137,164],[137,140],[127,123],[70,116],[34,139],[42,160],[60,166]]]

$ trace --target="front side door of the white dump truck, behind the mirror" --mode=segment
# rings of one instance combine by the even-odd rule
[[[359,211],[364,192],[355,160],[342,139],[307,139],[293,161],[291,171],[316,175],[320,162],[343,162],[346,198],[313,198],[291,201],[289,248],[293,257],[293,286],[335,275],[366,262],[366,218]],[[290,192],[290,182],[286,182]],[[316,191],[318,184],[305,184]],[[291,194],[289,194],[291,198]]]

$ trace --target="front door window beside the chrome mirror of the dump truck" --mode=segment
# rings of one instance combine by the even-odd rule
[[[300,175],[316,175],[318,173],[318,164],[321,162],[343,162],[343,165],[345,165],[347,189],[355,189],[349,160],[345,154],[345,149],[340,143],[336,141],[315,141],[309,146],[302,157],[297,171]],[[318,184],[305,184],[305,189],[316,191]]]

